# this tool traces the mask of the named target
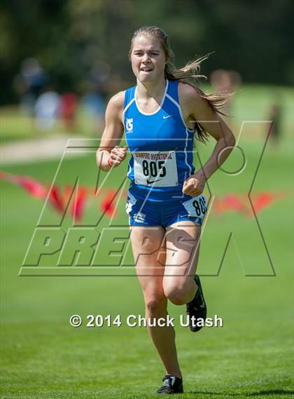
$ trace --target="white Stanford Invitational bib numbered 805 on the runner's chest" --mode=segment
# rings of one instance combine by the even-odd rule
[[[175,151],[135,151],[132,155],[136,184],[151,187],[173,187],[179,184]]]

